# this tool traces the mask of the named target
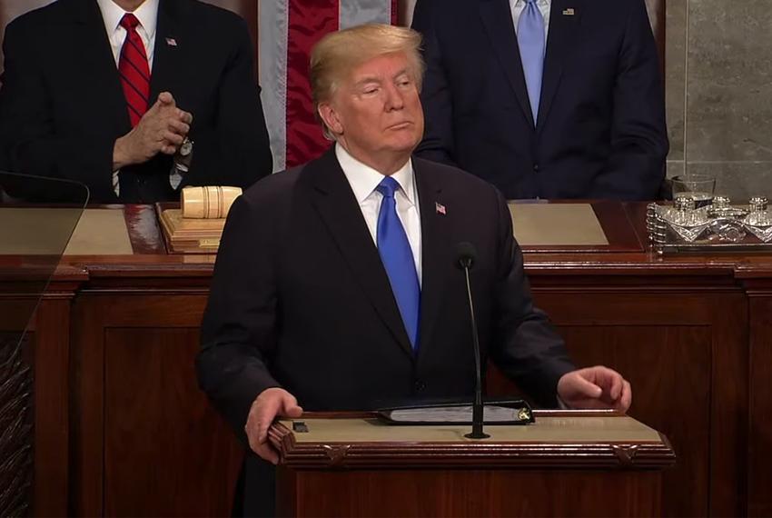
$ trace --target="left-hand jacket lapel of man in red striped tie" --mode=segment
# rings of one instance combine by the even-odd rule
[[[118,67],[107,33],[99,5],[93,0],[76,0],[73,4],[74,23],[73,48],[78,50],[75,58],[84,73],[80,76],[95,88],[94,105],[90,111],[100,115],[100,120],[108,122],[113,134],[120,136],[131,130],[126,99],[118,75]]]

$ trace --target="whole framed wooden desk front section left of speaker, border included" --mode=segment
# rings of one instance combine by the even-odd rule
[[[76,514],[230,513],[243,452],[198,390],[206,293],[195,292],[94,289],[76,301]]]

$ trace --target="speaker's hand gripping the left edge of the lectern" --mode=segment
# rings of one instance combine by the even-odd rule
[[[265,389],[252,402],[244,432],[254,453],[269,463],[279,463],[279,453],[268,442],[268,429],[279,417],[297,418],[302,415],[298,400],[282,388]]]

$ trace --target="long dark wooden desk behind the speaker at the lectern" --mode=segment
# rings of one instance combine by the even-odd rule
[[[31,330],[35,513],[227,514],[242,450],[193,372],[214,256],[167,254],[150,206],[106,208],[128,249],[65,256]],[[524,245],[536,303],[668,436],[663,515],[772,515],[772,256],[649,254],[644,210],[593,204],[607,245]]]

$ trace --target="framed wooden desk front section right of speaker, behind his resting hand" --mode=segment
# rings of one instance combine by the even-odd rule
[[[668,435],[678,463],[664,473],[661,514],[742,514],[745,468],[738,456],[745,451],[745,428],[737,413],[747,393],[736,387],[747,372],[747,343],[737,326],[745,321],[744,295],[737,289],[699,295],[583,291],[536,287],[534,294],[577,364],[606,364],[623,373],[633,386],[630,415]],[[491,374],[491,393],[517,391]]]

